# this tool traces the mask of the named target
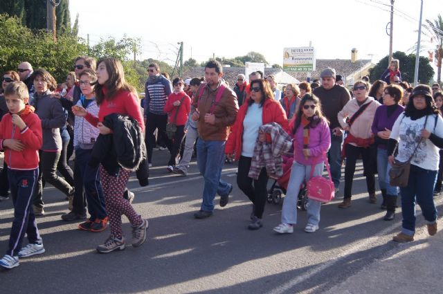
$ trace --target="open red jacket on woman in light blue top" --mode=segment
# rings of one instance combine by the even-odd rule
[[[225,153],[233,154],[235,151],[235,160],[239,160],[240,155],[242,155],[243,120],[246,116],[246,111],[248,111],[248,106],[248,100],[246,100],[237,113],[235,124],[231,128],[228,142],[226,142]],[[269,124],[270,122],[277,122],[285,131],[289,131],[289,123],[286,113],[284,113],[282,104],[278,101],[271,99],[266,99],[264,101],[262,122],[263,125]]]

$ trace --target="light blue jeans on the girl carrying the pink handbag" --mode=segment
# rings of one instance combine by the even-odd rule
[[[324,163],[318,163],[314,167],[312,176],[321,176]],[[297,197],[300,192],[300,185],[303,181],[308,181],[311,175],[311,165],[302,165],[296,161],[292,164],[291,177],[289,178],[286,196],[284,196],[282,208],[282,223],[297,223]],[[307,203],[307,223],[317,226],[320,223],[320,201],[308,199]]]

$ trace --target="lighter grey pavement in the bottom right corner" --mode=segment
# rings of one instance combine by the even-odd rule
[[[417,214],[419,218],[421,213]],[[430,237],[426,226],[422,226],[415,234],[415,241],[399,244],[390,257],[375,261],[326,293],[442,293],[442,219],[438,221],[438,229],[437,234]]]

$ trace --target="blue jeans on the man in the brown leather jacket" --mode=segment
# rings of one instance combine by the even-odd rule
[[[197,140],[197,166],[205,180],[201,210],[213,211],[215,194],[226,196],[232,187],[221,181],[225,145],[226,141]]]

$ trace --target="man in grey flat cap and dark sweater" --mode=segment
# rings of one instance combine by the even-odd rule
[[[351,100],[351,95],[344,86],[336,84],[334,68],[325,68],[320,73],[320,78],[321,86],[314,89],[314,95],[320,99],[323,114],[329,120],[331,148],[327,155],[331,166],[332,181],[334,181],[335,192],[337,193],[341,178],[341,145],[343,144],[343,130],[338,124],[337,114]]]

